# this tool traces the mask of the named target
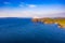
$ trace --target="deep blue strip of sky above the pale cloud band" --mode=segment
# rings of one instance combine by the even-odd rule
[[[21,3],[49,5],[49,4],[62,4],[65,5],[65,0],[0,0],[1,6],[18,6]],[[9,3],[9,4],[8,4]]]

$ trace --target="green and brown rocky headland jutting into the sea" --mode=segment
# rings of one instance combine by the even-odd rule
[[[44,24],[57,24],[60,28],[65,28],[65,18],[58,17],[58,18],[32,18],[32,22],[37,23],[37,22],[41,22]]]

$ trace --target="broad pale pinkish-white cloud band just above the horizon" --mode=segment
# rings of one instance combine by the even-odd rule
[[[26,6],[27,8],[27,6]],[[11,10],[0,10],[0,17],[60,17],[65,16],[65,14],[58,14],[58,13],[65,13],[65,10],[60,8],[58,5],[54,6],[41,6],[41,8],[27,8],[27,9],[11,9]]]

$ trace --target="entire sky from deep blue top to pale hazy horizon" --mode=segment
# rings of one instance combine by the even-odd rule
[[[0,17],[65,17],[65,0],[0,0]]]

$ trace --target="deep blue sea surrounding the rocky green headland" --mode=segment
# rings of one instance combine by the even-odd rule
[[[65,43],[65,29],[31,18],[0,18],[0,43]]]

